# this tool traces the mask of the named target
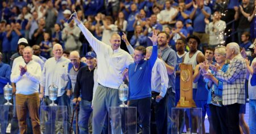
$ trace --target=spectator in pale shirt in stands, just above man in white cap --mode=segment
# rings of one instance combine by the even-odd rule
[[[28,20],[26,30],[28,31],[28,39],[32,40],[33,33],[38,29],[38,12],[32,12],[32,18]]]

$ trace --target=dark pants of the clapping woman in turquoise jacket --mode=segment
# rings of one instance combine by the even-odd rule
[[[210,113],[212,114],[212,125],[216,133],[225,134],[228,133],[228,126],[226,123],[227,113],[225,106],[215,106],[210,104]]]

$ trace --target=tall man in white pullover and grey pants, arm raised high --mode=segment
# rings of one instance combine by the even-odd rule
[[[121,104],[117,89],[122,84],[122,72],[134,62],[131,55],[120,48],[121,37],[119,34],[112,34],[111,46],[109,46],[93,37],[93,34],[77,19],[76,12],[73,19],[97,54],[99,85],[94,96],[92,125],[93,133],[101,133],[109,107]]]

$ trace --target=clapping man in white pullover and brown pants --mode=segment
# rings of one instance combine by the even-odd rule
[[[26,117],[30,114],[33,133],[40,133],[39,80],[42,75],[40,64],[32,60],[31,47],[23,50],[24,61],[14,67],[11,81],[16,83],[16,112],[20,133],[27,133]]]

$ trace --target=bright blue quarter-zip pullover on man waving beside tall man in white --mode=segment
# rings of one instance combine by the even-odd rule
[[[129,100],[151,97],[151,72],[158,57],[158,47],[153,46],[149,60],[129,65]]]

